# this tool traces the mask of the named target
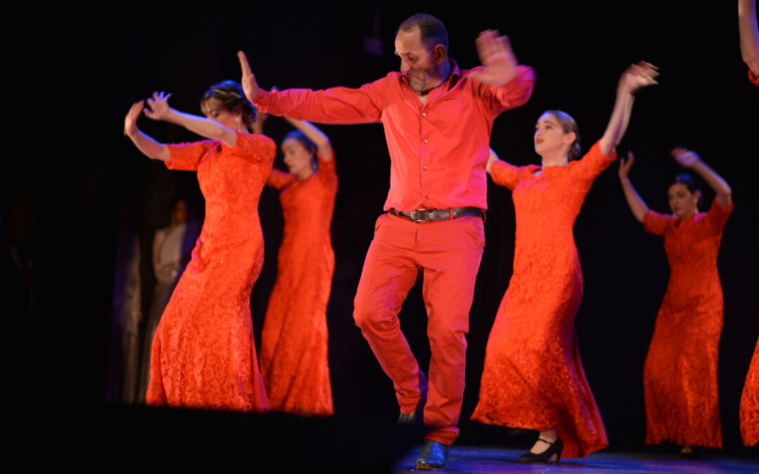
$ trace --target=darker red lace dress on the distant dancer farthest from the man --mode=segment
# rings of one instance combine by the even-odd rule
[[[664,237],[669,284],[643,369],[646,443],[722,447],[717,346],[723,298],[716,256],[732,211],[716,200],[685,221],[648,211],[644,228]]]

